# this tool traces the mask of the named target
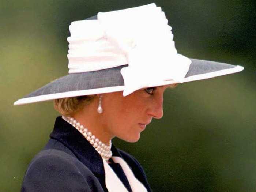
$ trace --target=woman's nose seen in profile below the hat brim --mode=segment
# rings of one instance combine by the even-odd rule
[[[151,102],[151,108],[148,110],[148,115],[155,119],[161,119],[163,117],[163,94],[158,95],[158,97]]]

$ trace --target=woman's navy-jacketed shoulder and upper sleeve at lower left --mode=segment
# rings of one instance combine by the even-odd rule
[[[100,184],[75,157],[56,149],[42,150],[31,161],[22,191],[93,191]]]

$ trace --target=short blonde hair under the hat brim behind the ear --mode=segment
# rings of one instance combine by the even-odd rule
[[[54,109],[64,116],[72,116],[88,105],[95,95],[84,95],[78,97],[66,97],[54,100]]]

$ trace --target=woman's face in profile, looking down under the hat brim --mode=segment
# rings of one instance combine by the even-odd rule
[[[105,131],[127,142],[136,142],[152,118],[163,116],[163,93],[168,86],[141,89],[123,97],[122,91],[103,94]]]

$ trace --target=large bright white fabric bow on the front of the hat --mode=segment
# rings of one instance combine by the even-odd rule
[[[174,46],[168,20],[154,3],[141,7],[98,13],[106,38],[125,54],[128,67],[121,70],[126,96],[152,82],[166,80],[182,83],[191,60]]]

